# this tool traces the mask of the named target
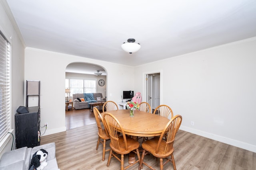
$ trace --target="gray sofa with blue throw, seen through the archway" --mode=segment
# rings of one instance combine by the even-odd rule
[[[106,102],[106,98],[102,97],[102,93],[92,93],[93,94],[93,99],[95,100],[94,102]],[[97,101],[97,97],[100,97],[101,100]],[[84,98],[83,93],[76,93],[73,94],[73,107],[75,109],[86,109],[89,108],[90,105],[88,103],[93,102],[92,100],[90,101],[85,101],[85,102],[79,102],[77,98]]]

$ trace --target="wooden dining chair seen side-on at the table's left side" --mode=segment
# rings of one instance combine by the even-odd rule
[[[109,140],[110,137],[108,135],[107,129],[105,128],[104,119],[102,118],[97,107],[93,108],[93,113],[94,113],[96,123],[98,126],[98,142],[97,142],[96,150],[98,150],[99,144],[102,143],[102,145],[103,145],[102,161],[104,161],[105,160],[105,152],[110,150],[110,149],[106,150],[106,141]],[[104,128],[102,128],[100,121],[102,122],[102,125]]]

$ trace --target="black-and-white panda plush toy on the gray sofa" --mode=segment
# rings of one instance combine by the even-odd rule
[[[40,149],[36,153],[34,153],[28,170],[44,169],[44,167],[48,164],[46,162],[47,155],[48,155],[48,152],[44,149]]]

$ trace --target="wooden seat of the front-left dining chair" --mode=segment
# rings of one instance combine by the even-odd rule
[[[140,143],[138,143],[138,141],[127,137],[126,141],[127,141],[127,150],[125,150],[125,142],[124,142],[124,138],[123,136],[118,137],[119,138],[119,146],[120,146],[120,150],[116,150],[112,143],[110,142],[110,147],[112,150],[114,150],[114,152],[118,153],[118,154],[128,154],[130,153],[132,150],[137,149],[140,146]]]

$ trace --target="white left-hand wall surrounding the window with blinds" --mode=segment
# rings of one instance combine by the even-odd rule
[[[11,43],[11,128],[15,129],[14,115],[19,106],[24,106],[24,46],[8,17],[8,9],[5,9],[2,3],[4,1],[0,1],[0,31],[4,33]],[[15,132],[13,131],[12,133],[15,142]],[[11,150],[11,148],[12,138],[10,135],[3,148],[0,145],[0,156],[4,152]]]

